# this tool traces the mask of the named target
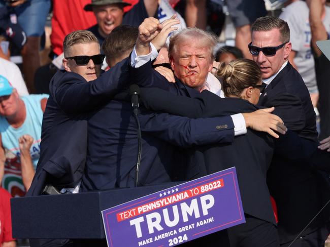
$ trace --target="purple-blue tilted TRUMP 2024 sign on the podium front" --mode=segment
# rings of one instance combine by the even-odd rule
[[[235,168],[102,211],[108,246],[175,246],[245,222]]]

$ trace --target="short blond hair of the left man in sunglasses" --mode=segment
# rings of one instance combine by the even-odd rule
[[[64,52],[64,57],[68,56],[68,50],[70,47],[76,44],[87,44],[87,43],[92,43],[96,42],[98,45],[98,40],[96,36],[87,30],[77,30],[72,33],[69,33],[67,36],[64,38],[63,42],[63,52]]]

